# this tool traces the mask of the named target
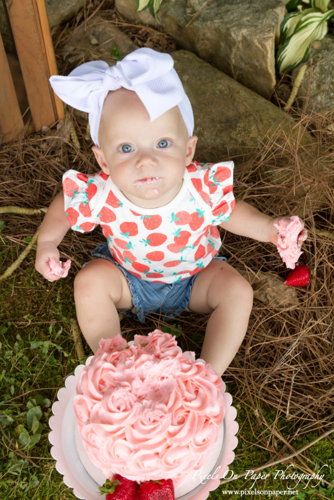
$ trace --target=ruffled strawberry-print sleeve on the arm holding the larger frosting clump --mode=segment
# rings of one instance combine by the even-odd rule
[[[226,222],[235,207],[233,194],[233,161],[215,163],[207,171],[213,224]]]

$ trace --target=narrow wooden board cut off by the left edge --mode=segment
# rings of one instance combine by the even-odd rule
[[[18,98],[8,64],[3,39],[0,36],[0,126],[1,139],[17,138],[24,129]]]

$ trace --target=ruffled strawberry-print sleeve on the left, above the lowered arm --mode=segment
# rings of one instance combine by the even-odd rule
[[[108,175],[103,172],[86,175],[77,170],[68,170],[64,173],[64,208],[75,231],[91,231],[99,224],[95,208],[107,178]]]

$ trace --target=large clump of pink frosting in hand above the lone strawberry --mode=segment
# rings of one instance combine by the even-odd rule
[[[289,269],[294,269],[295,263],[302,254],[301,244],[307,238],[307,230],[304,223],[296,215],[290,219],[280,219],[274,224],[277,236],[277,250]]]

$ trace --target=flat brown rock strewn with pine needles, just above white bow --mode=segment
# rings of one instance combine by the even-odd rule
[[[62,54],[69,62],[102,58],[112,64],[115,58],[122,58],[136,48],[137,45],[123,31],[96,15],[73,32],[70,30]]]

